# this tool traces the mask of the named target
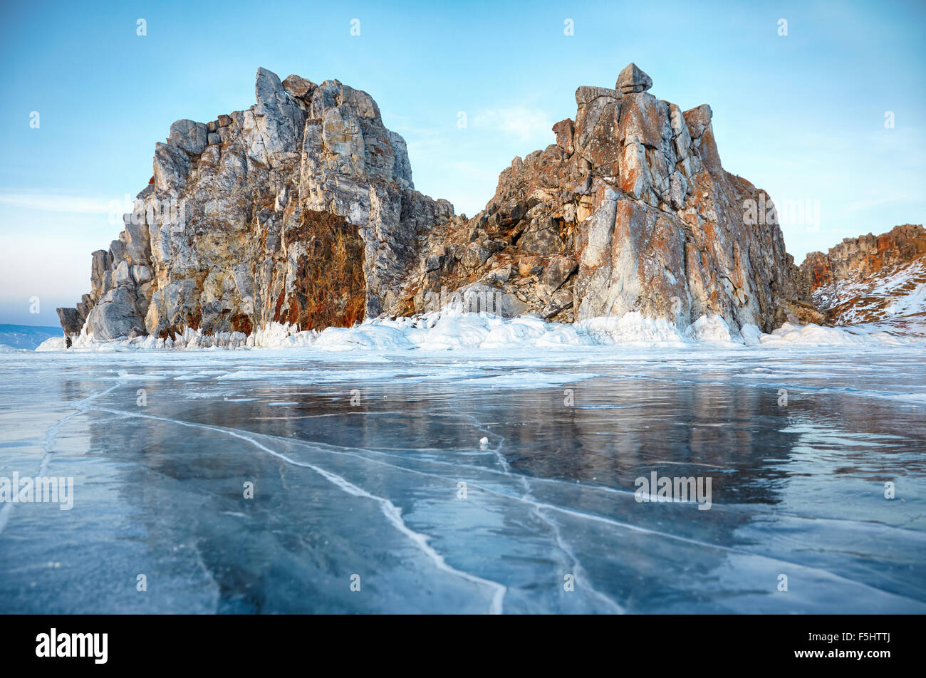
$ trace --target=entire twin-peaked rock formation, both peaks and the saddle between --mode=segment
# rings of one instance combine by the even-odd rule
[[[807,309],[770,199],[720,165],[710,107],[580,87],[556,144],[515,158],[476,217],[413,188],[369,94],[257,71],[257,105],[179,120],[92,291],[59,309],[96,340],[251,333],[471,310],[573,321],[718,314],[770,331]],[[771,222],[770,222],[771,221]]]

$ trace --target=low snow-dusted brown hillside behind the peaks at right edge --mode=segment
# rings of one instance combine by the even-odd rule
[[[808,254],[799,280],[832,324],[920,321],[926,317],[926,230],[904,224],[845,238],[826,254]]]

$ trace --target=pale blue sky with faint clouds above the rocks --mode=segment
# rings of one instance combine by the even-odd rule
[[[89,291],[90,253],[118,236],[108,204],[144,187],[170,123],[249,107],[258,66],[369,92],[416,187],[469,215],[512,157],[574,118],[578,86],[613,87],[634,61],[658,97],[710,104],[727,170],[811,207],[782,228],[798,262],[924,221],[926,3],[384,5],[5,0],[0,322],[55,325]]]

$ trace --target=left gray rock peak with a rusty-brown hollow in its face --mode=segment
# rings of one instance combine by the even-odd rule
[[[94,252],[90,295],[61,317],[66,334],[308,329],[394,305],[420,233],[453,206],[415,191],[405,141],[369,94],[267,69],[255,94],[170,126],[125,230]]]

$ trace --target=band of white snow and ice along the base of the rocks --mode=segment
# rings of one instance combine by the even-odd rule
[[[48,351],[158,351],[195,349],[250,349],[311,347],[326,351],[460,350],[503,348],[689,348],[706,345],[725,348],[790,346],[884,347],[926,345],[926,333],[900,332],[886,323],[845,327],[784,323],[770,334],[755,325],[732,329],[720,316],[701,316],[680,330],[668,320],[644,318],[630,312],[620,318],[593,318],[574,324],[547,322],[538,316],[501,318],[489,313],[463,313],[444,309],[411,318],[367,320],[353,327],[299,331],[293,325],[271,323],[250,335],[203,334],[187,329],[173,340],[154,336],[95,341],[86,331],[65,348],[64,337],[45,340],[35,350]]]

